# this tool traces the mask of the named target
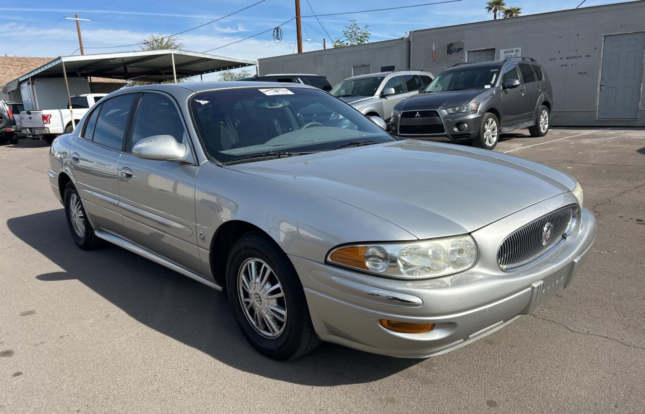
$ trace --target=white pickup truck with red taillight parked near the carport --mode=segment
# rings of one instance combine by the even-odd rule
[[[95,103],[107,94],[84,94],[72,96],[74,126],[81,121]],[[31,137],[42,137],[51,144],[54,138],[74,130],[69,109],[32,110],[20,113],[23,133]]]

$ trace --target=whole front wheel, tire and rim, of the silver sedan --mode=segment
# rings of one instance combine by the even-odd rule
[[[233,244],[226,291],[237,326],[267,357],[294,359],[319,344],[292,263],[264,235],[247,233]]]

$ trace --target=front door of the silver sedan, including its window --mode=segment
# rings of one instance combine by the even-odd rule
[[[190,151],[183,117],[168,95],[146,93],[119,160],[124,236],[139,246],[201,273],[195,234],[195,179],[199,166],[141,159],[132,146],[146,137],[172,135]]]

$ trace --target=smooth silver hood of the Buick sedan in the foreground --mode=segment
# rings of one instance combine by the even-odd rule
[[[473,232],[575,185],[510,155],[413,140],[226,168],[351,204],[419,239]]]

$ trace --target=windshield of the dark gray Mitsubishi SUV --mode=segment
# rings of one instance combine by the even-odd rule
[[[442,72],[428,85],[425,92],[444,92],[446,90],[484,89],[495,86],[501,66],[479,66]]]

